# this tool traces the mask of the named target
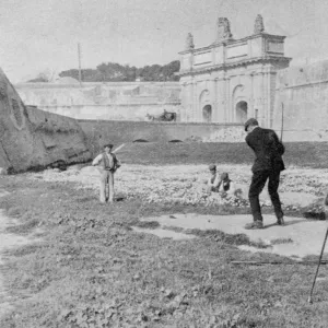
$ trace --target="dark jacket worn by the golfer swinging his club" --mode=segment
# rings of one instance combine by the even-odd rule
[[[247,134],[246,142],[256,155],[251,167],[253,172],[281,172],[285,168],[281,157],[284,153],[284,147],[273,130],[257,127]]]

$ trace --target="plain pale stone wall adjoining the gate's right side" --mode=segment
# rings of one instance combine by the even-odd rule
[[[285,141],[328,141],[328,60],[277,75],[273,128]]]

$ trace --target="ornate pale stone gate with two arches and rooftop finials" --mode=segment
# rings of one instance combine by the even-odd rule
[[[180,119],[197,122],[244,122],[257,117],[272,126],[276,75],[289,67],[284,36],[265,33],[255,20],[254,35],[234,39],[227,19],[218,20],[215,42],[180,55]]]

